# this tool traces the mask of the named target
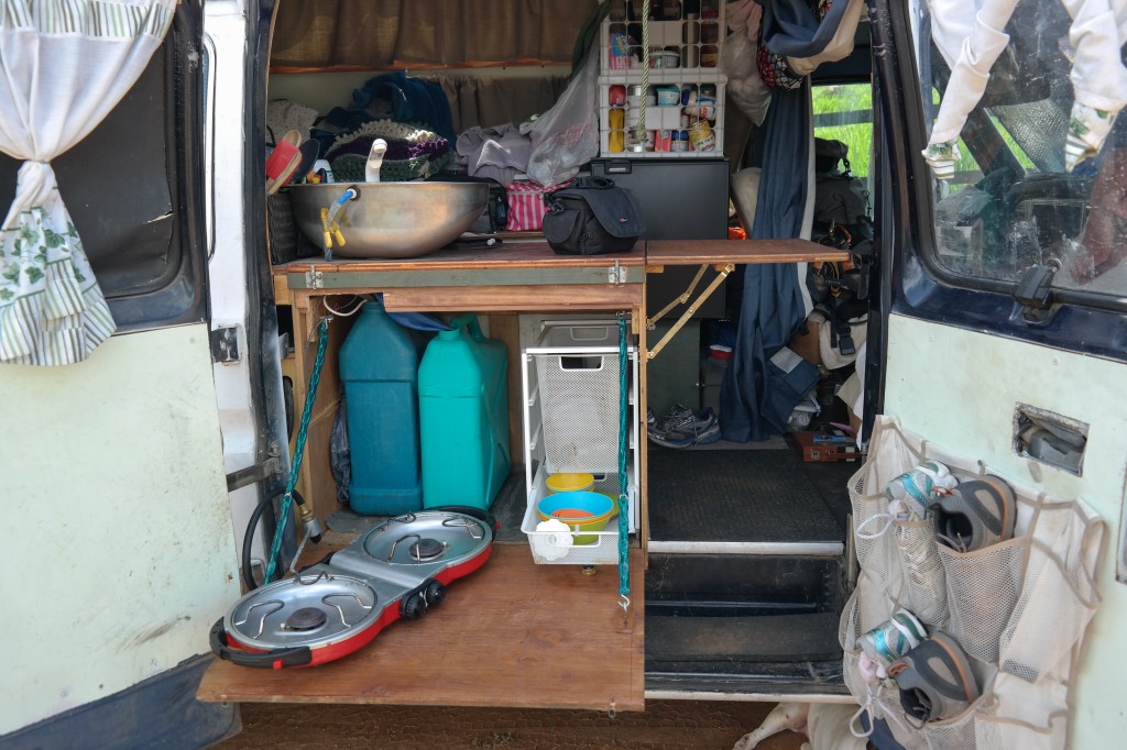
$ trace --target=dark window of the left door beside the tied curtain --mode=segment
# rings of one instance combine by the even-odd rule
[[[204,259],[194,226],[198,187],[195,19],[172,30],[122,101],[52,162],[118,331],[201,320]],[[177,44],[176,38],[183,39]],[[0,205],[11,203],[20,161],[0,154]]]

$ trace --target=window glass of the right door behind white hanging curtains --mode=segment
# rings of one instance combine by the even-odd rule
[[[940,123],[932,139],[940,141],[951,113],[969,113],[958,131],[949,179],[932,171],[938,262],[959,274],[1015,282],[1030,266],[1058,261],[1056,286],[1121,294],[1127,289],[1127,117],[1115,122],[1088,158],[1073,163],[1068,154],[1085,118],[1102,117],[1094,110],[1080,110],[1077,117],[1071,73],[1088,71],[1098,88],[1102,83],[1095,79],[1115,79],[1121,70],[1122,52],[1115,48],[1103,60],[1074,48],[1071,19],[1057,0],[1018,3],[1005,26],[1009,41],[979,97],[965,83],[947,90],[952,68],[956,81],[968,80],[956,64],[965,42],[952,36],[958,19],[937,20],[928,3],[915,0],[913,21],[921,84],[930,93],[923,97],[928,136]],[[958,117],[953,122],[957,127]]]

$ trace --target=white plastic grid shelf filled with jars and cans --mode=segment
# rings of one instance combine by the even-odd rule
[[[722,155],[728,79],[719,64],[727,34],[725,3],[655,0],[647,38],[641,3],[610,1],[600,30],[600,155]],[[648,87],[642,87],[646,44],[649,75]],[[635,132],[639,120],[641,139]]]

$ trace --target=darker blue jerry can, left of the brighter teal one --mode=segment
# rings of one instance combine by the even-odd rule
[[[410,334],[367,302],[340,347],[352,509],[398,516],[423,509],[419,461],[418,349]]]

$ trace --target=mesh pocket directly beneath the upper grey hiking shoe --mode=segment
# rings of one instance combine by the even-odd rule
[[[975,552],[937,545],[947,575],[947,632],[969,655],[997,663],[999,639],[1021,593],[1027,546],[1026,537]]]

